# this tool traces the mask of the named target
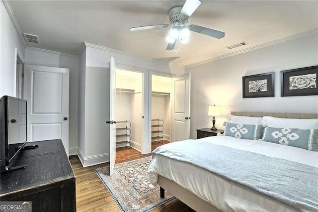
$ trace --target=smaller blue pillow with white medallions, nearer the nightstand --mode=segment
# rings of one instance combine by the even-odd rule
[[[223,134],[242,139],[258,140],[261,138],[261,132],[262,125],[259,124],[237,124],[227,122]]]

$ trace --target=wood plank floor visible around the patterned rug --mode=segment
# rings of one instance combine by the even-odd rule
[[[164,143],[168,143],[168,141],[164,141]],[[162,144],[157,141],[153,142],[152,150],[160,145]],[[142,158],[150,155],[151,154],[143,155],[133,148],[117,148],[116,163]],[[108,166],[109,163],[103,163],[83,168],[77,155],[70,156],[70,161],[76,176],[77,211],[120,212],[120,209],[117,206],[116,202],[93,170],[97,167]],[[193,210],[179,200],[174,199],[152,210],[152,212],[193,212]]]

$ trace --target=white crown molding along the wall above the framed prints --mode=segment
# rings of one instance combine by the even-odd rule
[[[192,68],[194,66],[199,66],[199,65],[202,65],[202,64],[205,64],[205,63],[209,63],[209,62],[212,62],[212,61],[215,61],[215,60],[220,60],[220,59],[232,57],[234,55],[242,54],[242,53],[253,51],[253,50],[256,50],[256,49],[265,48],[265,47],[272,46],[272,45],[275,45],[275,44],[278,44],[278,43],[284,43],[284,42],[291,41],[291,40],[294,40],[294,39],[298,39],[298,38],[301,38],[301,37],[314,35],[314,34],[318,34],[318,28],[312,29],[312,30],[309,30],[309,31],[306,31],[306,32],[302,32],[302,33],[299,33],[299,34],[295,34],[295,35],[292,35],[292,36],[284,37],[284,38],[281,38],[281,39],[278,39],[278,40],[273,40],[273,41],[270,41],[270,42],[267,42],[267,43],[263,43],[263,44],[260,44],[260,45],[252,46],[252,47],[249,47],[249,48],[246,48],[246,49],[242,49],[242,50],[239,50],[239,51],[236,51],[236,52],[232,52],[232,53],[229,53],[229,54],[225,54],[225,55],[222,55],[222,56],[214,57],[214,58],[211,58],[211,59],[208,59],[208,60],[204,60],[204,61],[201,61],[201,62],[193,63],[191,65],[185,66],[185,69]]]

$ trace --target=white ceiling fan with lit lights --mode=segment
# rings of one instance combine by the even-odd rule
[[[200,0],[186,0],[183,6],[175,6],[169,10],[169,20],[172,24],[172,29],[169,31],[166,40],[168,41],[168,46],[166,50],[170,51],[174,49],[176,42],[179,40],[181,43],[186,43],[189,41],[190,31],[198,32],[200,34],[208,35],[215,38],[223,38],[225,36],[224,32],[217,31],[214,29],[209,29],[203,26],[189,25],[185,24],[188,22],[189,17],[201,4]],[[155,29],[155,28],[167,28],[169,24],[158,24],[150,26],[138,26],[132,27],[130,31]]]

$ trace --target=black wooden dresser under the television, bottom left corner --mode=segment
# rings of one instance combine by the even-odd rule
[[[0,201],[32,201],[32,212],[76,212],[75,175],[61,139],[28,142],[14,166],[0,174]],[[19,144],[11,144],[14,150]]]

